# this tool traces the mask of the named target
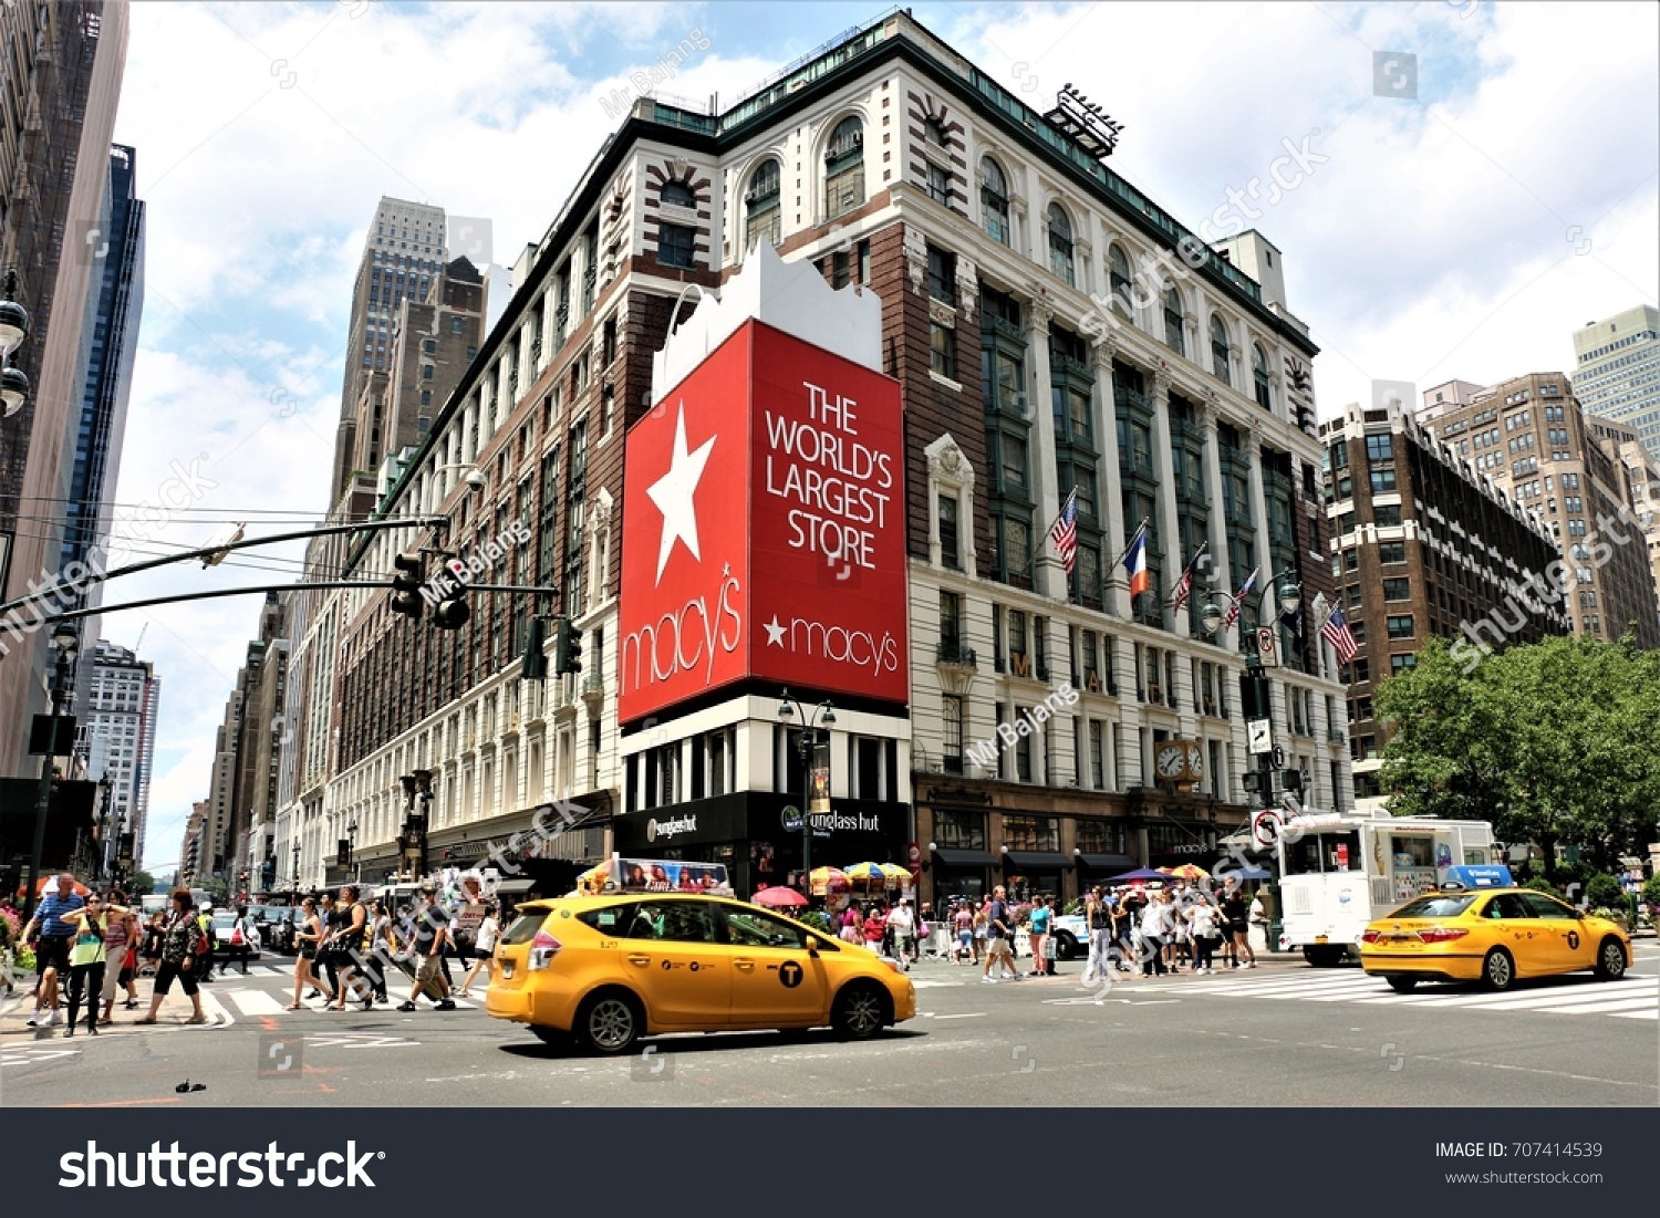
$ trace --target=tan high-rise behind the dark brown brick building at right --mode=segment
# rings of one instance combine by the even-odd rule
[[[1448,397],[1448,385],[1426,390],[1424,405],[1449,405],[1436,395]],[[1544,518],[1572,572],[1574,632],[1618,639],[1633,629],[1638,646],[1660,647],[1653,571],[1630,523],[1628,475],[1599,441],[1572,382],[1534,372],[1462,397],[1436,415],[1436,438]]]

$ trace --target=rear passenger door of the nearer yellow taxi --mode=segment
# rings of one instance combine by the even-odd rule
[[[732,969],[709,901],[637,901],[618,918],[622,979],[646,999],[652,1027],[725,1027]]]

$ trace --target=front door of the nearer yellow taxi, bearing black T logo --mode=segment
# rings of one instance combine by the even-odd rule
[[[830,1007],[823,957],[807,928],[762,909],[720,906],[732,964],[734,1027],[813,1027]]]

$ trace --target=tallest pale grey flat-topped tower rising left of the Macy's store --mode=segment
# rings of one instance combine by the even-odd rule
[[[392,368],[393,330],[405,300],[425,300],[443,267],[443,207],[383,196],[364,239],[352,284],[352,319],[334,450],[332,508],[345,493],[359,456],[359,433],[374,430],[374,400],[364,418],[365,383]],[[380,448],[385,453],[385,448]],[[372,466],[370,466],[372,468]]]

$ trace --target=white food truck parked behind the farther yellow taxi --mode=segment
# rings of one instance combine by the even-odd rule
[[[1484,820],[1293,816],[1280,830],[1280,951],[1318,967],[1358,959],[1368,923],[1436,891],[1448,868],[1497,861]]]

